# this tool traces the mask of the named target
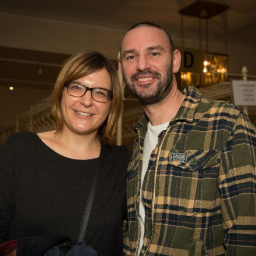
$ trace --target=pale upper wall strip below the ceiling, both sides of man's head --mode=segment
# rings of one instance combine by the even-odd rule
[[[111,59],[116,59],[125,30],[0,12],[0,33],[0,45],[3,47],[62,54],[73,54],[77,51],[91,49],[102,52]],[[173,41],[175,45],[181,45],[180,38],[174,37]],[[198,48],[198,41],[184,38],[184,47]],[[205,48],[205,42],[202,42],[202,47]],[[225,46],[209,42],[209,51],[225,53]],[[254,64],[256,47],[254,49],[243,48],[229,42],[227,53],[229,54],[230,73],[240,73],[241,67],[247,66],[249,74],[256,75]]]

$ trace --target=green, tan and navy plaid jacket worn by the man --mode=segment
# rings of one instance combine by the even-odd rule
[[[140,255],[256,255],[256,131],[232,104],[201,98],[195,87],[158,137],[140,191],[148,119],[127,171],[123,255],[137,255],[139,194],[145,207]]]

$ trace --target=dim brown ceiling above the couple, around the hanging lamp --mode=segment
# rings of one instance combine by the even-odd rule
[[[149,21],[161,24],[165,29],[180,36],[179,10],[195,1],[191,0],[73,0],[73,1],[0,1],[0,12],[64,20],[91,26],[126,30],[132,24]],[[255,47],[256,1],[255,0],[208,0],[230,6],[227,10],[228,40],[232,44]],[[211,20],[209,38],[223,38],[223,15]],[[198,38],[198,20],[184,19],[186,37]],[[239,37],[237,37],[239,35]]]

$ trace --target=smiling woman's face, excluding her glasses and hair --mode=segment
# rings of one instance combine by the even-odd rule
[[[97,70],[81,79],[74,80],[87,87],[101,87],[112,90],[111,77],[106,69]],[[98,132],[99,127],[106,120],[111,107],[111,99],[107,102],[97,102],[87,91],[83,97],[73,97],[67,94],[67,88],[62,91],[61,113],[63,131],[66,129],[76,134],[92,134]]]

